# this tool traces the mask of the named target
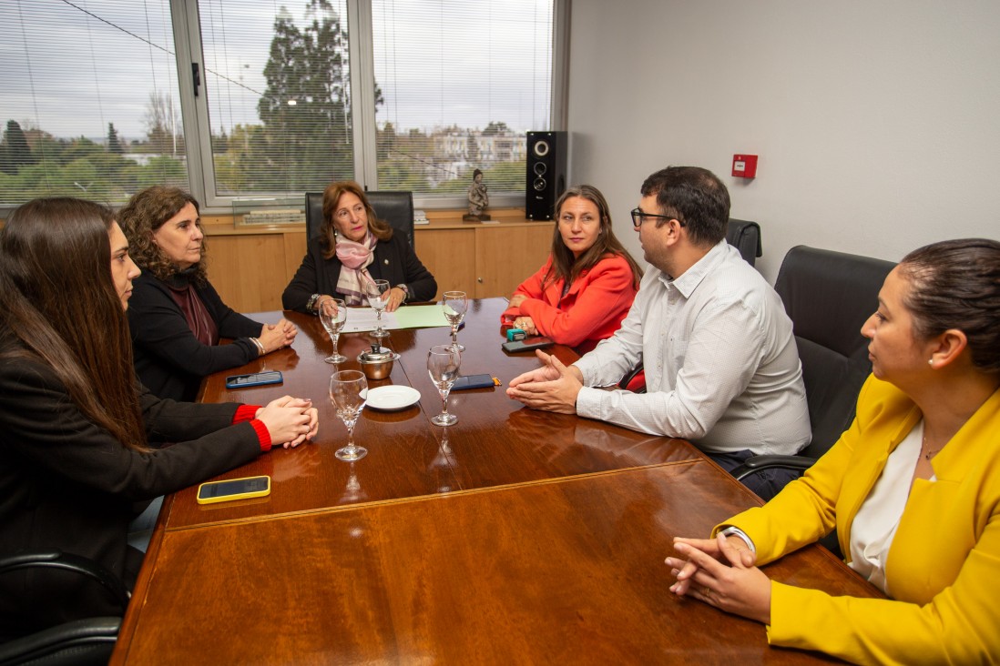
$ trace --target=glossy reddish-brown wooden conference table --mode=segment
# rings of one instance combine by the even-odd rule
[[[504,383],[537,366],[500,348],[501,299],[474,302],[462,372]],[[203,400],[255,404],[283,394],[319,409],[313,443],[222,474],[272,477],[267,497],[200,505],[169,496],[115,649],[114,664],[801,663],[764,628],[667,590],[675,535],[759,500],[686,441],[534,411],[504,387],[456,392],[458,423],[432,425],[441,400],[426,352],[447,329],[394,331],[389,378],[420,402],[366,408],[368,455],[336,459],[346,429],[330,405],[331,349],[315,318],[286,313],[293,348],[209,377]],[[280,313],[257,316],[274,322]],[[357,367],[366,333],[342,335]],[[555,347],[566,362],[576,354]],[[282,386],[226,390],[261,368]],[[784,582],[879,596],[827,550],[766,567]]]

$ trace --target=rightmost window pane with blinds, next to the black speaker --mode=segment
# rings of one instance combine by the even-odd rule
[[[372,0],[378,189],[523,193],[550,129],[552,0]]]

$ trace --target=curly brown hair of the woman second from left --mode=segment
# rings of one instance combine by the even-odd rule
[[[118,211],[118,224],[128,239],[129,255],[140,269],[149,271],[160,280],[169,280],[180,273],[180,268],[153,243],[153,233],[188,204],[201,215],[198,200],[188,193],[179,188],[155,185],[137,193]],[[200,219],[198,226],[201,226]],[[191,281],[200,286],[208,284],[207,245],[202,239],[201,261],[191,270]]]

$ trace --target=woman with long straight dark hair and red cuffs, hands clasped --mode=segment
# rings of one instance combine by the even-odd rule
[[[89,557],[131,586],[142,553],[126,534],[150,499],[295,446],[317,418],[287,396],[259,407],[150,394],[132,367],[128,250],[110,210],[70,198],[29,202],[0,232],[0,548]],[[93,592],[7,574],[0,633],[113,609]]]

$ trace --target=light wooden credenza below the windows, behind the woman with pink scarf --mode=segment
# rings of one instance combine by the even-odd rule
[[[417,256],[437,280],[437,298],[460,290],[469,298],[507,296],[549,255],[552,222],[532,222],[520,209],[491,214],[498,222],[463,223],[461,212],[428,211],[415,228]],[[208,275],[226,305],[237,312],[281,310],[281,293],[302,263],[301,226],[234,227],[228,216],[203,219]]]

